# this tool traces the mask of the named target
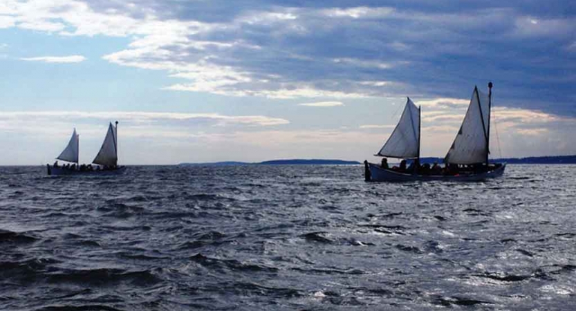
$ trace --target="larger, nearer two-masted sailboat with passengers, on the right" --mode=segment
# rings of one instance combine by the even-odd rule
[[[414,160],[414,169],[388,168],[364,161],[366,181],[450,180],[475,181],[502,176],[506,164],[490,164],[490,109],[492,109],[492,82],[488,94],[475,86],[466,115],[447,152],[445,169],[432,171],[420,167],[420,107],[408,98],[400,121],[375,156]]]

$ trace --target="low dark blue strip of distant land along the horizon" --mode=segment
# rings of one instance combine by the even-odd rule
[[[420,158],[421,163],[443,163],[443,158]],[[506,162],[508,164],[576,164],[575,156],[544,156],[528,158],[501,158],[491,159],[490,162]],[[206,162],[206,163],[180,163],[182,166],[227,166],[227,165],[358,165],[357,161],[322,160],[322,159],[288,159],[269,160],[263,162]]]

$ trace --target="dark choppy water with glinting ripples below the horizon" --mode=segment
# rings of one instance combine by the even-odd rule
[[[576,166],[0,168],[1,310],[571,310]]]

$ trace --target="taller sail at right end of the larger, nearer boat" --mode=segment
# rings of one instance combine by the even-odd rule
[[[474,87],[470,106],[468,106],[460,131],[458,131],[452,147],[446,155],[446,163],[474,164],[486,162],[489,152],[489,105],[488,95]]]

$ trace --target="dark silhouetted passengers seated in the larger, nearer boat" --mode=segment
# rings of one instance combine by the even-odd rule
[[[463,173],[483,173],[490,169],[495,169],[501,164],[495,164],[494,167],[487,167],[484,163],[468,164],[468,165],[458,165],[458,164],[445,164],[442,167],[438,162],[430,165],[425,163],[420,165],[418,161],[412,160],[407,167],[407,161],[402,160],[398,166],[389,167],[388,159],[382,158],[382,163],[380,164],[382,169],[389,169],[391,171],[397,171],[398,173],[418,173],[420,175],[449,175],[454,176]]]

